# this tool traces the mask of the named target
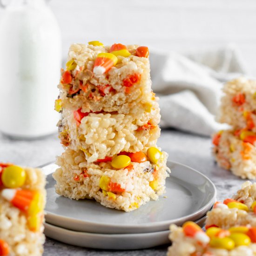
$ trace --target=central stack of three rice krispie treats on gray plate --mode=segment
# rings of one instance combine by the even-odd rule
[[[148,54],[135,45],[71,45],[55,101],[65,148],[53,175],[58,194],[131,211],[165,192]]]

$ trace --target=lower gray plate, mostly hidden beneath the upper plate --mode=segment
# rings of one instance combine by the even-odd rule
[[[206,216],[197,220],[201,227]],[[169,230],[137,234],[96,234],[71,231],[45,223],[45,235],[63,243],[94,249],[135,250],[170,243]]]

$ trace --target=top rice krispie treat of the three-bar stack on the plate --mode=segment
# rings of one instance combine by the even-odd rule
[[[131,109],[150,112],[158,108],[151,91],[148,47],[98,41],[88,45],[73,44],[68,53],[66,70],[61,70],[60,99],[55,108],[84,113],[116,112]]]

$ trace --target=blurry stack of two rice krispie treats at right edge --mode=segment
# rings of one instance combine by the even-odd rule
[[[245,78],[223,88],[217,121],[232,129],[213,136],[214,155],[222,168],[242,178],[256,178],[256,81]]]

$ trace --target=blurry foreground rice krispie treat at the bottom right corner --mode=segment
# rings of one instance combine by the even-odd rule
[[[170,226],[168,256],[253,256],[256,227],[211,227],[204,232],[194,222]]]

